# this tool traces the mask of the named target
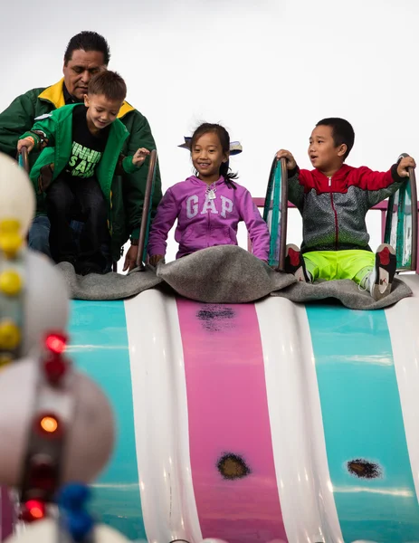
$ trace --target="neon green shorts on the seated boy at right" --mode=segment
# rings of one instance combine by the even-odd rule
[[[351,279],[359,284],[375,265],[376,254],[370,251],[311,251],[303,254],[306,269],[313,281]]]

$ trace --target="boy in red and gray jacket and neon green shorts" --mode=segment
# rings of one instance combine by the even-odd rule
[[[375,300],[390,293],[395,276],[395,250],[368,246],[367,211],[393,195],[405,183],[412,157],[404,157],[387,172],[350,167],[345,160],[355,134],[345,119],[322,119],[309,138],[313,170],[300,169],[290,151],[287,159],[289,200],[302,216],[301,251],[287,246],[286,271],[300,281],[350,279],[370,291]]]

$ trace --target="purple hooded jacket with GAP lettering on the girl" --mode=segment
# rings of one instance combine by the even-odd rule
[[[148,253],[166,254],[167,233],[177,219],[176,258],[214,245],[237,245],[237,224],[244,221],[252,240],[252,252],[268,260],[270,235],[252,195],[241,185],[236,189],[220,177],[208,186],[195,176],[171,186],[157,207],[148,239]],[[208,191],[214,190],[210,199]]]

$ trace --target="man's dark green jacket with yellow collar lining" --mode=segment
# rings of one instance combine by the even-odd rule
[[[0,151],[11,157],[16,157],[17,140],[24,132],[33,128],[35,119],[65,105],[62,83],[63,79],[46,89],[28,90],[18,96],[3,113],[0,113]],[[134,155],[140,147],[156,148],[148,120],[138,110],[134,110],[128,102],[124,102],[118,117],[129,131],[129,136],[121,148],[124,155]],[[31,166],[38,156],[39,153],[32,152],[30,154]],[[120,248],[127,242],[129,235],[133,239],[138,238],[147,173],[148,158],[144,166],[140,167],[137,172],[113,178],[112,257],[114,260],[119,260]],[[157,169],[152,203],[153,214],[161,196],[160,174]],[[36,214],[44,214],[43,202],[38,202],[38,204],[41,207],[37,208]],[[117,251],[116,245],[118,244]]]

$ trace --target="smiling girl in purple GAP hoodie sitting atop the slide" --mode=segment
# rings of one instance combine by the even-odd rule
[[[165,256],[167,233],[176,219],[176,258],[214,245],[237,245],[237,225],[244,221],[253,254],[268,261],[268,227],[250,192],[233,182],[237,174],[228,167],[229,152],[224,127],[205,123],[195,130],[191,157],[196,175],[171,186],[157,207],[148,239],[153,266]]]

